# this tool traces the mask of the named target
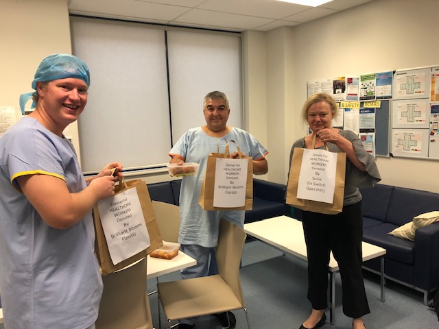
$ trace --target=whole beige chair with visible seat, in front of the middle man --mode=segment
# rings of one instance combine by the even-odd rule
[[[171,321],[223,313],[242,308],[250,321],[239,277],[246,232],[224,219],[219,224],[216,251],[219,274],[202,278],[161,282],[157,284],[158,298],[171,328]]]

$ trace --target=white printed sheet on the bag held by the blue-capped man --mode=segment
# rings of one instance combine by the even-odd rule
[[[102,199],[97,207],[114,265],[150,247],[150,234],[136,188]]]

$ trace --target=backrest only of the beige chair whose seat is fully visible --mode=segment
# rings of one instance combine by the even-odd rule
[[[216,251],[217,266],[219,275],[233,289],[242,306],[244,303],[244,293],[241,287],[239,267],[241,256],[246,242],[246,232],[234,223],[221,219],[219,223],[218,246]]]

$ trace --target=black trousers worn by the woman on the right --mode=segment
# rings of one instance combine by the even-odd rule
[[[343,313],[362,317],[370,313],[361,270],[363,217],[361,202],[344,206],[337,215],[302,212],[308,252],[308,299],[316,310],[328,307],[328,266],[332,250],[342,278]]]

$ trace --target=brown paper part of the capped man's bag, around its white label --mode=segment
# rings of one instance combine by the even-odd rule
[[[136,188],[137,195],[139,197],[139,201],[141,204],[141,209],[143,212],[143,217],[145,218],[145,224],[150,235],[150,247],[127,258],[126,260],[122,260],[121,263],[114,265],[112,263],[110,252],[108,251],[108,245],[105,239],[104,230],[102,229],[101,218],[99,217],[99,208],[97,204],[93,207],[93,221],[95,223],[95,254],[97,255],[97,259],[99,260],[99,265],[102,270],[102,275],[106,275],[117,271],[119,269],[123,269],[123,267],[127,267],[137,260],[141,260],[151,252],[153,252],[158,247],[163,245],[163,241],[161,238],[160,231],[158,230],[158,223],[156,221],[156,216],[154,215],[154,210],[152,208],[152,202],[150,198],[150,193],[148,193],[147,187],[143,180],[130,180],[130,181],[119,181],[119,185],[116,187],[115,194],[119,194],[125,191],[128,188]],[[127,242],[128,243],[128,242]],[[146,276],[146,273],[145,273]]]

